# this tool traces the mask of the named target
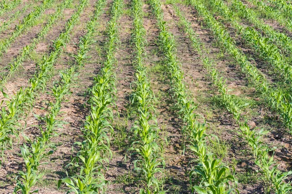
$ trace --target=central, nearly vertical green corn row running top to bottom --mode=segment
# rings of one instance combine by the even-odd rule
[[[133,64],[136,71],[135,90],[131,95],[131,102],[136,105],[135,112],[138,118],[132,127],[136,141],[130,150],[134,150],[138,155],[137,160],[134,161],[134,170],[139,172],[139,179],[144,186],[140,189],[140,194],[164,194],[157,178],[157,174],[164,174],[163,167],[165,166],[164,159],[160,157],[162,145],[158,143],[160,130],[153,114],[153,112],[155,113],[154,94],[150,88],[144,64],[146,31],[143,26],[143,2],[142,0],[132,0],[131,5],[134,26],[132,33]]]

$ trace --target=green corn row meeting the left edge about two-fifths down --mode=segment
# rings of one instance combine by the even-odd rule
[[[18,67],[23,64],[23,62],[30,56],[31,52],[37,48],[37,44],[53,27],[57,19],[61,18],[63,11],[68,5],[72,3],[73,0],[64,0],[63,3],[58,6],[55,13],[50,16],[48,23],[37,33],[36,37],[33,39],[32,43],[22,48],[18,56],[15,57],[12,62],[10,62],[6,67],[6,71],[2,71],[0,76],[2,80],[0,83],[3,85],[9,78],[13,77],[15,72],[17,72]]]

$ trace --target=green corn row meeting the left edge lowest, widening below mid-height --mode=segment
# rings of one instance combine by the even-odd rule
[[[87,4],[88,0],[80,0],[80,6],[66,23],[64,32],[54,41],[53,51],[49,56],[44,55],[42,61],[37,64],[37,70],[29,80],[31,86],[25,89],[20,88],[13,97],[8,97],[7,94],[2,92],[3,96],[8,99],[4,101],[6,105],[2,106],[0,112],[0,149],[2,152],[7,148],[7,143],[11,144],[10,136],[18,136],[18,127],[21,127],[19,121],[31,111],[37,91],[45,90],[47,81],[51,79],[54,73],[55,61],[71,39],[70,33],[78,23],[79,17]],[[5,107],[7,108],[5,109]]]

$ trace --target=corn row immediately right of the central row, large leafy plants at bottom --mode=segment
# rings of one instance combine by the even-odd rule
[[[174,39],[165,25],[160,1],[149,0],[149,3],[160,29],[159,47],[167,64],[165,68],[171,81],[171,92],[173,97],[176,97],[177,105],[180,107],[179,114],[185,123],[182,132],[186,136],[190,150],[198,157],[196,160],[198,165],[194,166],[189,174],[192,193],[238,193],[229,184],[232,182],[236,185],[237,179],[231,175],[228,166],[207,149],[208,135],[205,133],[207,127],[197,121],[198,115],[195,113],[197,107],[183,81],[183,70],[177,60]],[[201,177],[199,185],[197,185],[198,180],[195,178],[197,175]]]

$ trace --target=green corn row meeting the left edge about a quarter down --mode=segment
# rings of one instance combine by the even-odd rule
[[[33,12],[25,16],[22,21],[15,27],[10,37],[4,38],[0,41],[0,57],[10,48],[16,38],[25,32],[27,29],[34,27],[37,20],[44,14],[45,10],[53,5],[55,0],[44,0],[40,6],[37,6]]]

